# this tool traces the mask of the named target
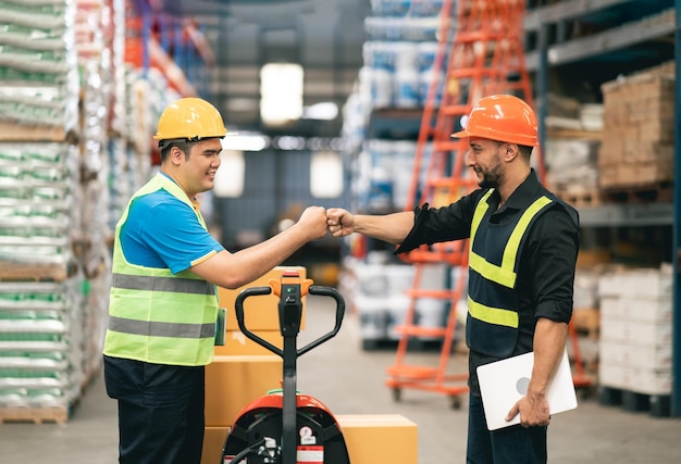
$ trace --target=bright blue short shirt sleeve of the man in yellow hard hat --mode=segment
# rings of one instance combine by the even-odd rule
[[[132,264],[165,267],[173,274],[224,250],[191,208],[165,190],[133,201],[121,230],[121,247]]]

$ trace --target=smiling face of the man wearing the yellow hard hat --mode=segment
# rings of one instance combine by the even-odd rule
[[[213,188],[215,173],[220,167],[222,143],[219,138],[210,138],[188,145],[188,153],[173,148],[170,153],[171,176],[185,190],[189,198]]]

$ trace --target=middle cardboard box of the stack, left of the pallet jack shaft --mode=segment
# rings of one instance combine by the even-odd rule
[[[206,366],[206,426],[226,427],[251,401],[282,386],[282,359],[216,355]]]

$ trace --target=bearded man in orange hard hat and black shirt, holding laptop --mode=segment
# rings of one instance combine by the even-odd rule
[[[330,209],[329,230],[334,237],[357,233],[398,244],[396,253],[470,239],[467,463],[545,463],[546,388],[564,354],[572,315],[579,215],[541,185],[531,166],[537,122],[523,100],[482,98],[453,137],[468,138],[466,164],[479,189],[443,208],[425,203],[387,215]],[[520,424],[490,431],[476,368],[531,351],[534,368],[527,392],[506,417],[510,422],[519,415]]]

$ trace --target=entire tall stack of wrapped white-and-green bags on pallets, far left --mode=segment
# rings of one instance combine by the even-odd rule
[[[67,421],[101,364],[111,5],[0,4],[1,423]]]

